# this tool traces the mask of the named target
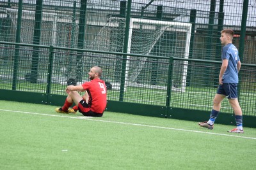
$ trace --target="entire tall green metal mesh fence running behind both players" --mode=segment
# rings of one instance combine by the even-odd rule
[[[220,31],[231,28],[243,63],[239,100],[255,117],[255,20],[253,0],[1,1],[0,89],[64,96],[97,65],[108,101],[206,112],[218,86]],[[232,113],[227,100],[222,106]]]

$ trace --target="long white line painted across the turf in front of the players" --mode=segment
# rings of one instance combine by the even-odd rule
[[[27,114],[32,114],[32,115],[44,115],[48,117],[63,117],[63,118],[75,118],[75,119],[84,119],[84,120],[92,120],[96,122],[107,122],[107,123],[112,123],[112,124],[123,124],[123,125],[134,125],[134,126],[141,126],[141,127],[152,127],[152,128],[157,128],[157,129],[170,129],[174,131],[185,131],[185,132],[196,132],[196,133],[202,133],[202,134],[213,134],[213,135],[218,135],[218,136],[228,136],[228,137],[235,137],[235,138],[244,138],[244,139],[256,139],[252,137],[246,137],[246,136],[236,136],[232,134],[219,134],[219,133],[213,133],[213,132],[202,132],[202,131],[193,131],[193,130],[188,130],[188,129],[178,129],[178,128],[173,128],[173,127],[161,127],[161,126],[156,126],[156,125],[144,125],[144,124],[132,124],[132,123],[127,123],[127,122],[115,122],[115,121],[109,121],[109,120],[99,120],[95,119],[93,117],[68,117],[68,116],[63,116],[63,115],[48,115],[44,113],[34,113],[34,112],[27,112],[27,111],[15,111],[15,110],[2,110],[0,111],[10,111],[10,112],[15,112],[15,113],[27,113]]]

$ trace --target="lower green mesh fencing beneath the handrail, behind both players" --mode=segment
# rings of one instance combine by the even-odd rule
[[[17,46],[16,43],[1,43],[7,46],[4,50],[7,50],[8,53],[15,53],[15,50],[17,50],[17,48],[15,48],[15,45]],[[63,65],[60,64],[60,61],[56,60],[54,56],[61,56],[65,53],[76,53],[79,51],[83,52],[83,57],[86,57],[86,60],[93,60],[97,57],[105,59],[105,62],[101,67],[104,70],[104,80],[111,84],[111,87],[108,87],[109,101],[124,101],[127,103],[209,111],[211,110],[212,99],[216,93],[216,88],[218,87],[218,75],[216,76],[216,72],[209,72],[208,70],[220,69],[221,62],[129,54],[134,57],[147,59],[145,60],[147,64],[145,64],[143,71],[141,71],[140,81],[134,82],[129,79],[125,81],[125,76],[123,76],[121,79],[124,80],[125,83],[122,86],[120,84],[115,84],[114,80],[116,74],[113,61],[120,55],[128,55],[127,53],[93,52],[93,50],[79,50],[77,48],[61,48],[57,46],[50,47],[21,44],[19,44],[19,46],[28,46],[28,49],[24,50],[22,47],[18,49],[20,56],[18,61],[9,58],[1,63],[0,89],[65,95],[64,89],[67,86],[66,77],[68,74],[65,69],[74,68],[71,69],[71,71],[74,71],[76,70],[76,65],[74,66],[72,62],[70,62],[65,67],[61,67]],[[31,64],[31,60],[23,57],[31,51],[29,48],[33,46],[37,46],[40,55],[44,56],[44,60],[40,61],[40,65],[44,66],[40,67],[41,78],[36,82],[28,75],[28,66]],[[88,53],[90,53],[90,55],[87,55]],[[102,54],[104,54],[104,57]],[[124,61],[127,59],[120,60]],[[156,60],[158,61],[156,62]],[[161,62],[159,62],[159,60],[161,60]],[[180,68],[180,66],[177,65],[184,65],[184,62],[175,62],[177,60],[187,60],[188,64],[185,65],[192,70],[191,72],[193,72],[193,74],[183,77],[186,78],[186,83],[183,84],[183,88],[179,87],[179,84],[175,83],[180,81],[180,77],[176,75],[178,71],[175,71],[175,68]],[[15,62],[19,63],[17,70],[15,70],[14,67]],[[134,62],[138,62],[138,60],[134,60]],[[161,67],[166,69],[162,69],[157,72],[157,84],[152,84],[152,65],[156,63],[161,64]],[[97,62],[95,62],[95,64],[99,65]],[[239,89],[240,103],[243,108],[244,115],[250,116],[256,115],[255,67],[255,64],[244,64],[239,73],[241,76]],[[124,69],[124,71],[127,71],[127,67],[124,67]],[[77,84],[88,81],[89,70],[89,65],[87,67],[83,67],[83,71],[81,73],[82,80],[76,82]],[[183,73],[183,70],[179,69],[179,71]],[[13,76],[13,72],[17,72],[17,76]],[[72,83],[72,81],[70,81],[70,83]],[[222,106],[221,112],[232,113],[232,108],[230,108],[227,100],[223,102]]]

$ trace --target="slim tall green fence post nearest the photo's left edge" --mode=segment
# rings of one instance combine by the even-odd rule
[[[20,43],[20,28],[21,28],[21,17],[22,17],[22,0],[19,0],[18,18],[17,18],[17,29],[16,29],[16,43]],[[12,90],[16,90],[17,76],[19,69],[19,54],[20,46],[15,45],[14,63],[13,63],[13,80],[12,80]]]

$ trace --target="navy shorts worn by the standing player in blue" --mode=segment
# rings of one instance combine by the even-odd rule
[[[227,96],[228,99],[236,99],[237,85],[238,83],[223,83],[222,85],[219,85],[217,94]]]

